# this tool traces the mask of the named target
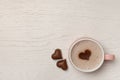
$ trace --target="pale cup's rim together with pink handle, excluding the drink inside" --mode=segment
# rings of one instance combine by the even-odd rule
[[[97,67],[95,67],[94,69],[90,69],[90,70],[81,69],[81,68],[77,67],[77,66],[73,63],[73,60],[72,60],[72,58],[71,58],[71,57],[72,57],[72,56],[71,56],[71,54],[72,54],[71,51],[72,51],[74,45],[76,45],[76,43],[81,42],[81,41],[83,41],[83,40],[89,40],[89,41],[92,41],[92,42],[96,43],[96,45],[97,45],[97,46],[100,48],[100,50],[101,50],[101,54],[102,54],[102,57],[101,57],[101,58],[102,58],[102,60],[101,60],[100,64],[99,64]],[[102,66],[102,64],[104,63],[105,60],[114,60],[114,58],[115,58],[115,56],[114,56],[113,54],[105,54],[102,45],[101,45],[98,41],[96,41],[96,40],[94,40],[94,39],[92,39],[92,38],[89,38],[89,37],[82,37],[82,38],[80,38],[80,39],[77,39],[75,42],[73,42],[72,45],[70,46],[68,56],[69,56],[69,60],[70,60],[71,64],[73,65],[73,67],[74,67],[75,69],[77,69],[78,71],[82,71],[82,72],[93,72],[93,71],[96,71],[96,70],[98,70],[98,69]]]

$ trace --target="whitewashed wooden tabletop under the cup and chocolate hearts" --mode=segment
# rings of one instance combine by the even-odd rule
[[[0,0],[0,80],[120,80],[120,0]],[[71,43],[90,36],[116,55],[93,73],[76,71]],[[69,69],[50,56],[61,48]]]

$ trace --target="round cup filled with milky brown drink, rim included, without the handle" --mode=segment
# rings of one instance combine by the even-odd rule
[[[91,52],[88,59],[86,50]],[[83,59],[79,56],[82,54]],[[100,43],[92,38],[83,37],[76,40],[69,49],[69,60],[73,67],[82,72],[93,72],[104,62],[104,50]]]

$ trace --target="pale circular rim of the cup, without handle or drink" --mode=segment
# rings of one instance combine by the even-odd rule
[[[83,70],[83,69],[78,68],[78,67],[73,63],[73,61],[72,61],[72,59],[71,59],[71,51],[72,51],[74,45],[75,45],[76,43],[80,42],[80,41],[83,41],[83,40],[90,40],[90,41],[95,42],[95,43],[100,47],[101,52],[102,52],[102,60],[101,60],[100,64],[99,64],[97,67],[95,67],[95,68],[93,68],[93,69],[90,69],[90,70]],[[81,71],[81,72],[93,72],[93,71],[96,71],[97,69],[99,69],[99,68],[102,66],[102,64],[103,64],[103,62],[104,62],[104,49],[103,49],[102,45],[101,45],[97,40],[95,40],[95,39],[93,39],[93,38],[90,38],[90,37],[81,37],[81,38],[75,40],[75,41],[71,44],[68,52],[69,52],[69,53],[68,53],[68,58],[69,58],[69,60],[70,60],[70,63],[73,65],[73,67],[74,67],[75,69],[77,69],[78,71]]]

